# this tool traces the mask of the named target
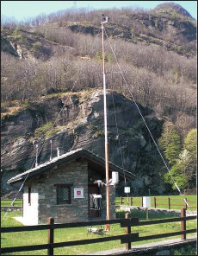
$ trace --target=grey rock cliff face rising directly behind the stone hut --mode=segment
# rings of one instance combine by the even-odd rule
[[[148,189],[152,193],[162,193],[164,183],[159,171],[162,161],[137,107],[131,99],[118,93],[107,93],[107,107],[109,161],[137,176],[135,181],[129,182],[132,195],[145,195]],[[155,118],[151,110],[139,108],[157,140],[162,121]],[[51,129],[54,123],[56,125]],[[3,115],[4,192],[10,189],[6,184],[10,176],[34,167],[35,144],[40,151],[38,163],[49,160],[50,141],[52,157],[56,157],[58,147],[60,154],[84,148],[104,157],[102,91],[48,95],[40,103],[34,103],[21,112]],[[122,195],[123,186],[121,182],[117,188],[118,195]]]

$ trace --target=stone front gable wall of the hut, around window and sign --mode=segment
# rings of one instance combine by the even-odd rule
[[[55,222],[88,220],[87,163],[71,162],[66,165],[60,165],[57,169],[49,170],[41,181],[38,181],[39,223],[46,223],[48,217],[53,217]],[[72,184],[71,204],[57,205],[54,184],[63,183]],[[74,188],[83,188],[84,198],[75,199]]]

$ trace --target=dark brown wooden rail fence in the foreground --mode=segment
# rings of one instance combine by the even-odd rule
[[[15,252],[25,252],[25,251],[34,251],[34,250],[47,250],[48,256],[53,256],[53,249],[58,247],[65,246],[80,246],[93,243],[100,243],[105,241],[112,240],[121,240],[122,244],[126,244],[126,249],[131,249],[131,243],[135,241],[143,240],[155,240],[159,238],[167,238],[175,235],[181,235],[182,240],[186,240],[186,234],[192,234],[196,232],[196,229],[186,230],[186,221],[195,220],[196,216],[186,216],[186,209],[181,210],[181,217],[170,218],[164,220],[154,220],[154,221],[139,221],[139,218],[130,218],[130,214],[125,215],[125,219],[117,219],[110,221],[87,221],[87,222],[75,222],[75,223],[64,223],[64,224],[54,224],[54,219],[49,218],[48,224],[46,225],[37,225],[37,226],[26,226],[26,227],[1,227],[1,233],[12,233],[12,232],[27,232],[27,231],[36,231],[36,230],[48,230],[47,243],[43,245],[34,245],[34,246],[13,246],[13,247],[4,247],[1,248],[1,253],[15,253]],[[132,234],[132,227],[153,225],[153,224],[162,224],[170,222],[181,222],[181,231],[174,233],[166,234],[154,234],[148,236],[139,237],[139,233]],[[66,228],[66,227],[90,227],[93,225],[105,225],[105,224],[115,224],[120,223],[121,227],[126,227],[126,234],[116,235],[116,236],[106,236],[96,239],[89,240],[72,240],[54,243],[54,230],[57,228]]]

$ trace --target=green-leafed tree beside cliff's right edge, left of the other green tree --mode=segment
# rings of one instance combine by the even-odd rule
[[[182,150],[182,140],[176,131],[176,126],[165,122],[161,138],[158,140],[160,148],[164,151],[165,158],[170,165],[174,165]]]

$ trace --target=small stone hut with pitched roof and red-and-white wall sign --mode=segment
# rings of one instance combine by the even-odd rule
[[[123,179],[123,170],[109,163],[109,177],[113,171],[119,173],[120,180]],[[129,172],[125,171],[125,176],[133,179]],[[24,182],[22,222],[37,225],[46,223],[49,217],[56,223],[105,219],[106,185],[100,181],[105,181],[104,159],[88,150],[78,149],[54,157],[8,182]],[[115,187],[109,188],[110,215],[114,219]],[[102,198],[93,199],[93,195],[102,195]]]

